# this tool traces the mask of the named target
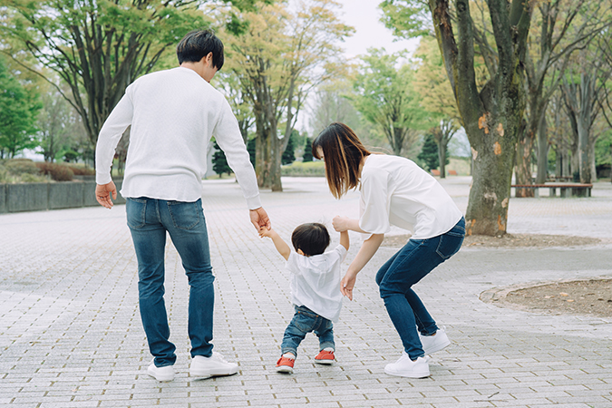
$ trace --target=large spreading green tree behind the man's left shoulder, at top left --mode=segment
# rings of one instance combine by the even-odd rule
[[[56,87],[81,115],[95,144],[126,86],[150,73],[189,30],[209,26],[199,10],[204,1],[5,0],[12,14],[0,30],[15,45],[4,52]],[[37,64],[26,63],[21,50]],[[71,94],[40,67],[59,75]]]

